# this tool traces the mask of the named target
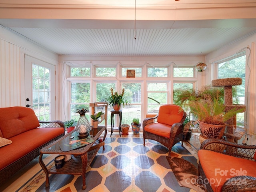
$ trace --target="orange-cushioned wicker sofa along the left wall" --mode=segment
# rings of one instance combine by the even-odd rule
[[[31,108],[0,108],[0,184],[64,134],[63,122],[38,121]]]

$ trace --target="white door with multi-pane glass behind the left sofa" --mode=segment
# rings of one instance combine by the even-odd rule
[[[32,108],[39,120],[55,118],[55,66],[25,56],[26,107]]]

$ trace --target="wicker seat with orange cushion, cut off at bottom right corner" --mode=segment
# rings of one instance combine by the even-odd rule
[[[198,158],[198,182],[208,192],[256,191],[256,145],[207,139]]]

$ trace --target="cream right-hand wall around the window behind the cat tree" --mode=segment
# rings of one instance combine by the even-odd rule
[[[246,51],[246,96],[245,112],[246,127],[248,128],[248,144],[256,144],[256,34],[237,40],[219,50],[206,55],[206,62],[213,63],[237,54],[241,50]],[[213,70],[213,68],[211,68]],[[216,71],[211,71],[211,80],[216,78]]]

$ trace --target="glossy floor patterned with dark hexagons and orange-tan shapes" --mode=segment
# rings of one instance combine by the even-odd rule
[[[197,136],[192,136],[190,142],[184,142],[184,145],[186,148],[179,143],[176,144],[172,148],[171,156],[184,158],[198,167]],[[10,181],[9,186],[3,191],[194,192],[192,189],[179,186],[166,156],[168,149],[156,141],[146,140],[146,146],[143,146],[142,133],[134,135],[130,132],[129,135],[122,137],[118,132],[114,132],[112,137],[108,133],[105,150],[100,148],[86,172],[86,190],[82,190],[82,176],[79,175],[52,174],[50,188],[45,188],[45,176],[42,171],[38,171],[32,176],[38,180],[35,186],[31,186],[31,183],[34,185],[34,181],[27,178],[29,181],[20,184],[22,187],[12,188],[14,181]],[[52,160],[49,165],[53,165]],[[21,173],[20,177],[27,177],[26,172]],[[16,182],[22,182],[19,181],[19,176]]]

